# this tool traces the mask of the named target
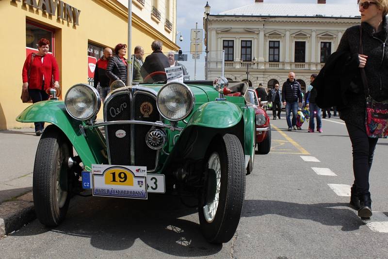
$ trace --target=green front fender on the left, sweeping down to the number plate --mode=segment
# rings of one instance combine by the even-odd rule
[[[87,170],[91,170],[94,163],[108,163],[105,139],[100,130],[85,129],[86,136],[84,136],[80,130],[80,125],[84,123],[70,117],[63,101],[49,100],[34,103],[21,112],[16,117],[16,121],[24,123],[42,121],[57,126],[69,139]]]

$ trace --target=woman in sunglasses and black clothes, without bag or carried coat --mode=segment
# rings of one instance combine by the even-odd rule
[[[337,51],[350,52],[358,67],[364,68],[370,95],[377,101],[388,100],[388,0],[359,0],[361,25],[344,32]],[[360,48],[360,26],[363,53]],[[358,58],[357,58],[358,56]],[[369,138],[365,129],[366,99],[360,69],[355,65],[355,76],[345,93],[348,104],[342,107],[340,118],[345,121],[353,147],[354,183],[350,205],[358,210],[358,216],[372,216],[372,200],[369,192],[369,172],[372,166],[376,138]]]

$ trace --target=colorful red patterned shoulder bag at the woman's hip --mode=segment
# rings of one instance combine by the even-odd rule
[[[378,102],[367,98],[365,128],[370,138],[388,137],[388,101]]]

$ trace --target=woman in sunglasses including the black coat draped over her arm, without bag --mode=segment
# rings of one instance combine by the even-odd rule
[[[324,89],[322,96],[333,96],[339,117],[345,121],[352,143],[355,178],[350,205],[358,210],[361,219],[369,219],[372,216],[369,174],[378,138],[367,134],[366,96],[377,102],[388,101],[388,0],[360,0],[358,4],[361,24],[343,33],[337,51],[332,54],[334,58],[329,57],[326,64],[333,63],[333,60],[337,63],[327,68],[325,65],[313,86],[318,89],[319,102],[321,89]],[[323,72],[325,69],[330,74]],[[347,71],[346,75],[341,73],[342,70]],[[368,84],[363,82],[364,73]],[[339,82],[343,77],[348,80]],[[327,87],[333,84],[336,87]],[[342,93],[340,98],[336,96],[338,90]]]

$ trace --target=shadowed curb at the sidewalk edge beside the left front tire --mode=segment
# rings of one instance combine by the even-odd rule
[[[0,204],[0,238],[35,219],[32,192]]]

